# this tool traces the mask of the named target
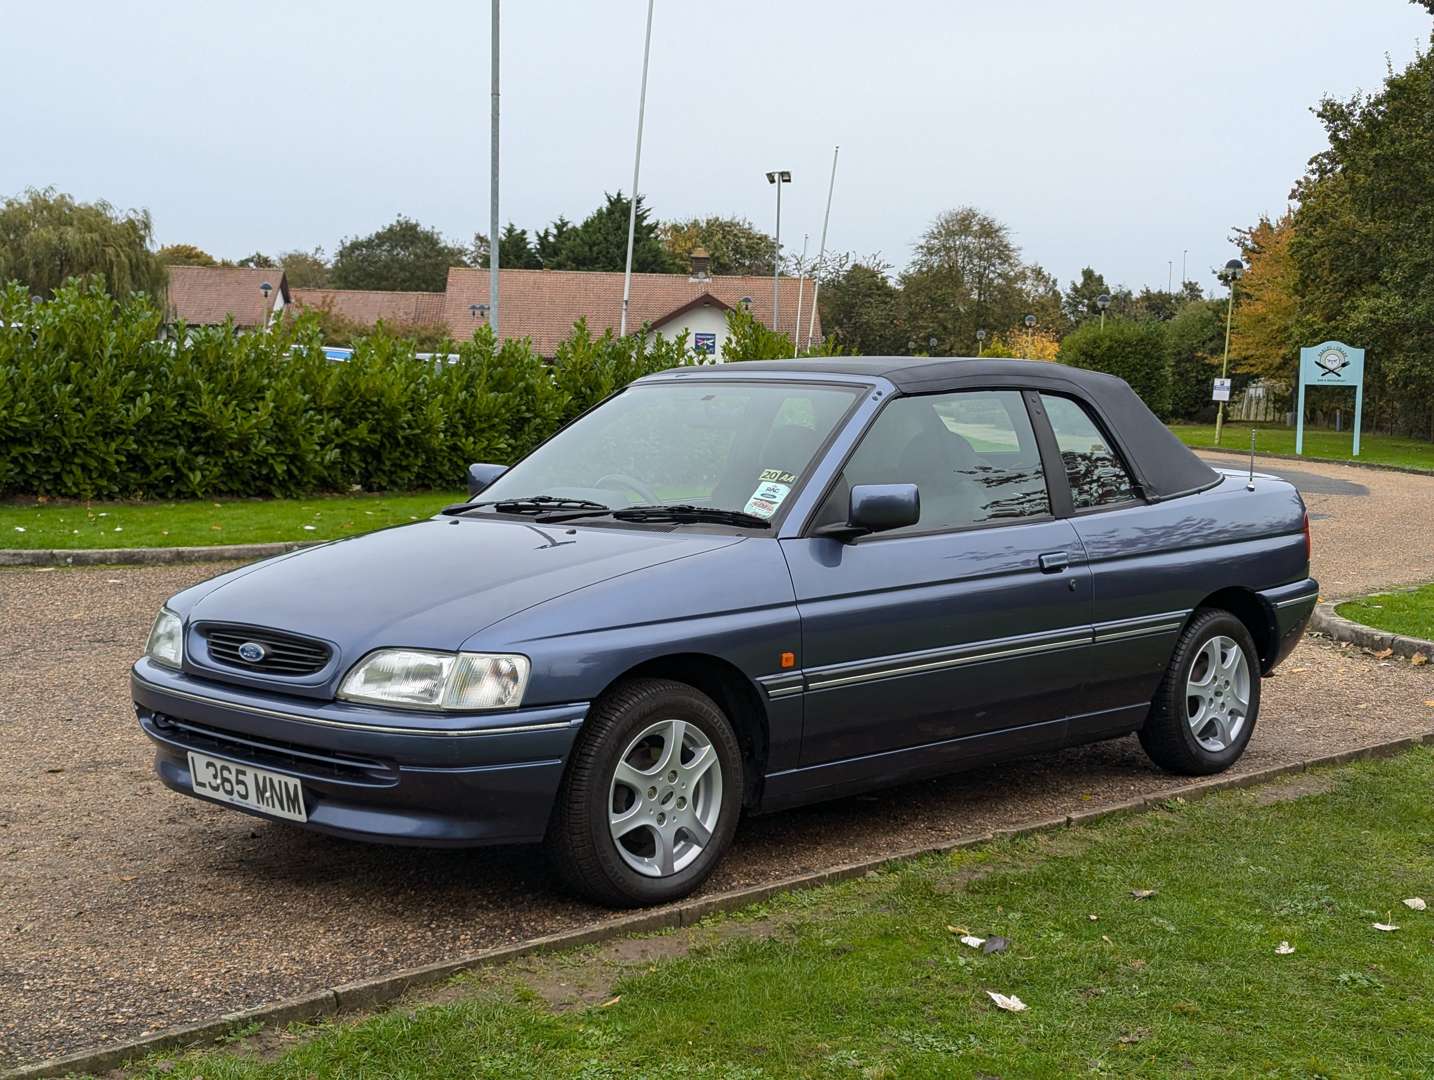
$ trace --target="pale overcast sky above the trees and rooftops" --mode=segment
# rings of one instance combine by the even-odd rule
[[[645,0],[508,0],[502,215],[536,228],[630,189]],[[1067,283],[1212,283],[1233,225],[1276,214],[1322,93],[1377,89],[1430,17],[1405,0],[657,0],[641,191],[658,217],[902,267],[972,204]],[[489,4],[4,4],[0,194],[146,207],[215,255],[323,245],[396,214],[488,227]]]

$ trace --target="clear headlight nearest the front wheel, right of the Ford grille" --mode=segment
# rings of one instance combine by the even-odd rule
[[[528,671],[522,655],[380,648],[354,664],[338,697],[400,709],[515,709]]]

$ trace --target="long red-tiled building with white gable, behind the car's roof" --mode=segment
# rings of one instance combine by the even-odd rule
[[[572,324],[588,320],[588,330],[615,331],[622,316],[622,274],[591,270],[502,270],[499,268],[499,331],[503,337],[532,338],[539,356],[551,357],[572,333]],[[812,280],[780,280],[777,327],[796,338],[797,301],[802,300],[802,341],[812,314]],[[449,270],[443,317],[456,340],[465,340],[488,321],[488,271]],[[727,313],[746,303],[764,326],[771,326],[770,277],[710,277],[703,273],[634,274],[628,330],[644,324],[673,337],[688,331],[694,346],[710,344],[720,359],[727,338]],[[710,336],[698,338],[698,334]],[[822,338],[817,317],[813,340]]]

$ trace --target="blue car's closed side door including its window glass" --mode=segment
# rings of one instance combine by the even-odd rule
[[[1090,574],[1053,515],[1028,403],[1020,390],[889,402],[813,526],[845,521],[858,483],[918,485],[916,525],[782,541],[802,618],[803,766],[1007,729],[1044,746],[1081,711]]]

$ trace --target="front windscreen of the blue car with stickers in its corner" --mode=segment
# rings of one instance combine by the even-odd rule
[[[539,446],[479,499],[684,503],[771,519],[860,392],[736,380],[632,386]]]

